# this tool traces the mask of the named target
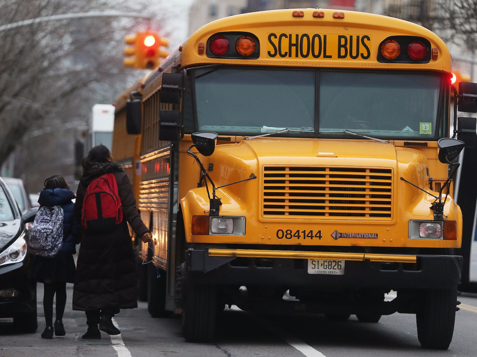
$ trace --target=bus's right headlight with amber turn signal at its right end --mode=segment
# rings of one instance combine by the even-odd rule
[[[409,239],[457,240],[457,222],[409,221]]]

